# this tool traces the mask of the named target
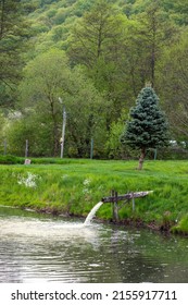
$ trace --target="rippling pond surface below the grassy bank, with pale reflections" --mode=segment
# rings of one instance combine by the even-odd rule
[[[188,240],[0,207],[0,282],[188,282]]]

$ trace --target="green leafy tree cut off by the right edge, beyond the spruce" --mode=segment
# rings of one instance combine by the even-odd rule
[[[164,86],[165,84],[165,86]],[[188,138],[188,33],[166,50],[161,64],[160,91],[176,139]]]

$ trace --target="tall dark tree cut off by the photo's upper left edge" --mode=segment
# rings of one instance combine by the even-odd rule
[[[0,106],[13,101],[23,68],[28,24],[21,0],[0,0]],[[9,103],[9,105],[8,105]]]

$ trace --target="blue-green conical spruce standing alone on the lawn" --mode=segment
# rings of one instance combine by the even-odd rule
[[[130,109],[129,117],[121,142],[140,150],[138,169],[141,170],[147,149],[168,144],[167,121],[150,85],[142,88],[138,95],[136,107]]]

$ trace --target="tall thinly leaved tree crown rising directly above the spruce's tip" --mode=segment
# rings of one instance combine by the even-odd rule
[[[141,86],[147,80],[156,87],[158,64],[163,49],[171,44],[176,29],[166,21],[160,8],[160,1],[152,0],[145,4],[145,11],[134,16],[136,23],[131,29],[130,64],[134,66],[134,77],[138,77]]]

